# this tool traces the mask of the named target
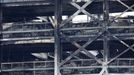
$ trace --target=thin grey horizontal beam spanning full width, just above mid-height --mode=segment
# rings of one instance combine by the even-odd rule
[[[129,29],[134,28],[134,26],[109,26],[108,29]],[[93,30],[93,29],[101,29],[98,27],[76,27],[76,28],[62,28],[61,31],[74,31],[74,30]],[[3,34],[13,34],[13,33],[31,33],[31,32],[49,32],[53,31],[53,29],[40,29],[40,30],[26,30],[26,31],[2,31]]]

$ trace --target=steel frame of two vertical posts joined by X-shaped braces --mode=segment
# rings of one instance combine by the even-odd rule
[[[95,1],[95,0],[88,0],[83,6],[79,6],[75,2],[71,2],[71,5],[76,7],[78,10],[73,15],[71,15],[67,20],[62,21],[62,0],[55,0],[55,14],[54,14],[55,19],[53,21],[54,39],[55,39],[55,42],[54,42],[55,43],[54,75],[62,75],[61,70],[64,69],[63,65],[65,63],[67,63],[69,60],[71,60],[71,58],[73,58],[75,55],[77,55],[78,53],[81,53],[81,51],[84,51],[86,53],[85,54],[86,56],[88,56],[91,59],[96,60],[96,62],[101,65],[102,70],[100,71],[99,75],[109,75],[108,68],[109,68],[109,64],[112,61],[114,61],[115,59],[117,59],[118,57],[120,57],[121,55],[123,55],[124,53],[126,53],[129,50],[134,51],[134,48],[133,48],[134,44],[131,45],[131,46],[128,45],[127,43],[125,43],[123,40],[121,40],[120,38],[118,38],[117,36],[115,36],[114,34],[112,34],[108,30],[110,28],[109,25],[114,20],[118,19],[122,14],[128,12],[129,10],[134,11],[134,9],[133,9],[134,4],[132,6],[128,6],[125,3],[123,3],[121,0],[117,0],[117,1],[120,4],[122,4],[123,6],[125,6],[127,9],[124,12],[122,12],[120,15],[116,16],[114,19],[109,18],[109,0],[103,0],[103,23],[100,26],[100,32],[98,33],[98,35],[92,37],[92,39],[88,39],[87,42],[84,45],[80,45],[76,41],[70,40],[70,38],[67,35],[62,33],[62,30],[63,31],[66,30],[63,27],[68,22],[70,22],[75,16],[79,15],[81,12],[83,14],[91,17],[93,20],[97,19],[92,14],[90,14],[89,12],[87,12],[85,10],[85,8],[88,5],[90,5],[93,1]],[[2,26],[2,9],[0,9],[0,10],[1,10],[0,11],[0,25]],[[98,21],[98,20],[96,20],[96,21]],[[2,27],[0,27],[0,30],[1,30],[1,35],[0,36],[2,38],[2,33],[4,33],[4,32],[2,32]],[[70,29],[68,29],[68,30],[70,30]],[[7,32],[5,32],[5,33],[7,33]],[[9,33],[11,33],[11,32],[9,32]],[[90,53],[86,49],[86,47],[88,45],[90,45],[92,42],[94,42],[95,40],[99,39],[100,37],[103,37],[103,49],[104,49],[103,60],[97,58],[96,56],[94,56],[92,53]],[[111,59],[109,59],[109,54],[110,54],[109,53],[109,40],[110,40],[110,37],[114,38],[115,40],[118,40],[120,43],[122,43],[124,46],[127,47],[126,50],[124,50],[123,52],[121,52],[120,54],[118,54],[117,56],[115,56],[115,57],[113,57]],[[61,56],[62,56],[61,38],[64,38],[66,41],[71,42],[71,44],[73,44],[74,46],[76,46],[78,48],[77,50],[75,50],[70,56],[68,56],[64,60],[62,60],[62,58],[61,58]],[[87,67],[83,67],[83,68],[87,68]]]

